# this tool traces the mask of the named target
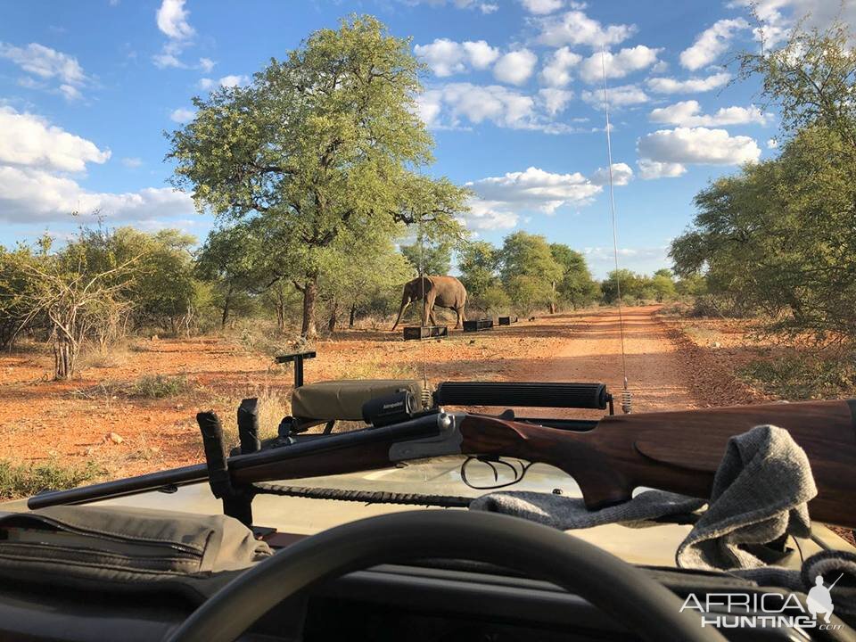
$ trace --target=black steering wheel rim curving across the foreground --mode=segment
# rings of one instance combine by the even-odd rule
[[[646,640],[724,642],[645,572],[562,531],[502,514],[420,510],[322,531],[243,572],[169,635],[169,642],[231,642],[303,588],[376,564],[467,559],[524,572],[572,591]]]

